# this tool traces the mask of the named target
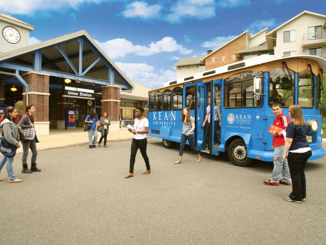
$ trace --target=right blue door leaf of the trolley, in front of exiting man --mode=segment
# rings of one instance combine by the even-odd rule
[[[219,154],[219,145],[221,144],[221,126],[220,126],[220,116],[219,113],[222,114],[222,93],[221,93],[221,83],[222,80],[214,80],[212,83],[211,91],[212,93],[212,108],[211,111],[211,121],[213,122],[211,125],[211,154],[218,155]],[[222,117],[222,116],[221,116]],[[222,122],[221,122],[222,123]]]

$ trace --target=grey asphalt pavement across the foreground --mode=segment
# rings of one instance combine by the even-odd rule
[[[41,173],[22,183],[0,174],[0,244],[326,244],[325,158],[308,162],[307,201],[283,200],[289,186],[266,186],[272,163],[238,167],[148,140],[128,173],[131,141],[40,151]],[[326,145],[324,144],[324,148]],[[29,156],[30,157],[30,156]],[[30,159],[30,158],[29,158]]]

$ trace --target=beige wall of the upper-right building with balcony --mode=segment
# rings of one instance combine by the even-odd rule
[[[322,26],[325,21],[326,18],[311,14],[303,14],[302,16],[297,17],[293,21],[281,27],[279,30],[277,30],[277,40],[274,48],[275,55],[283,56],[284,52],[289,51],[296,51],[297,55],[307,55],[307,48],[303,48],[302,44],[304,35],[308,34],[308,27]],[[296,30],[296,41],[283,43],[283,32],[290,30]],[[323,32],[326,32],[326,30],[323,29]],[[325,54],[325,48],[323,48],[323,54]]]

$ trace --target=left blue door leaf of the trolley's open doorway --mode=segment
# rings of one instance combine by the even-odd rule
[[[206,85],[202,83],[197,84],[197,104],[196,104],[196,143],[198,150],[205,150],[205,135],[203,122],[205,119],[205,94]]]

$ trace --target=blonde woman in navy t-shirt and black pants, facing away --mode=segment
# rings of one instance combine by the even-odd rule
[[[292,179],[292,192],[284,200],[294,203],[306,201],[306,176],[305,166],[311,156],[307,135],[308,126],[301,107],[292,105],[289,107],[289,115],[292,119],[286,128],[284,147],[284,160],[287,159]],[[286,155],[288,153],[288,156]]]

